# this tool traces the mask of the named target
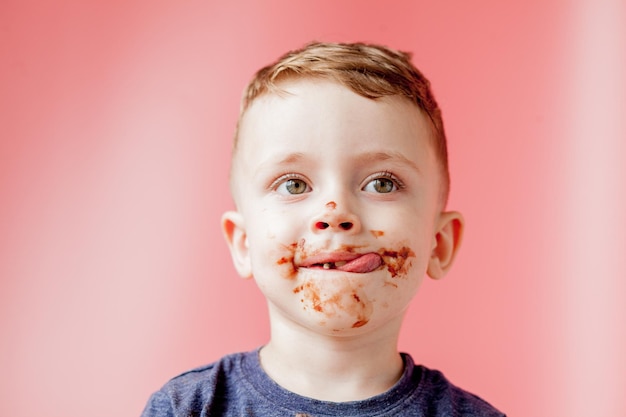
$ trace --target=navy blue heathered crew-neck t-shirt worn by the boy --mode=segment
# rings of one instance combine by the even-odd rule
[[[261,368],[258,350],[235,353],[170,380],[150,397],[142,417],[504,416],[452,385],[441,372],[415,365],[408,354],[402,358],[404,372],[389,391],[336,403],[303,397],[276,384]]]

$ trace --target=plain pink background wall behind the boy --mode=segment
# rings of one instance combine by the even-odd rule
[[[0,415],[139,415],[263,343],[219,230],[241,89],[312,40],[414,52],[467,233],[401,348],[510,416],[626,415],[622,0],[0,4]]]

